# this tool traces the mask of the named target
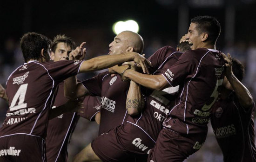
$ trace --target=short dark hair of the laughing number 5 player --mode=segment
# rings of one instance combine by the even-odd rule
[[[202,32],[208,33],[208,39],[215,43],[221,33],[221,25],[219,21],[211,16],[197,16],[191,19],[191,23],[196,24],[196,29],[201,34]]]

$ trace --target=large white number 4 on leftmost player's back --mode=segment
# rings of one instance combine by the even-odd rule
[[[28,84],[20,85],[20,88],[18,89],[18,91],[16,92],[16,94],[13,97],[13,101],[10,106],[10,111],[19,110],[19,109],[27,107],[27,103],[24,103],[24,99],[25,99],[26,92],[27,92],[27,85]],[[18,99],[19,99],[19,103],[18,103],[18,105],[15,106]]]

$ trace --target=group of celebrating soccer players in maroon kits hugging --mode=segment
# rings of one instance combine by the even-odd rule
[[[241,83],[243,65],[216,50],[220,32],[215,18],[195,17],[176,49],[146,59],[142,37],[124,31],[109,55],[85,61],[84,42],[75,48],[65,35],[51,42],[25,34],[25,63],[0,87],[9,103],[0,161],[66,162],[69,137],[85,117],[100,124],[99,136],[74,162],[182,162],[202,147],[209,120],[225,162],[255,162],[255,104]]]

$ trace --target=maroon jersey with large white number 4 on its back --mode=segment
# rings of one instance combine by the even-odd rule
[[[7,80],[9,109],[0,136],[27,134],[45,138],[56,86],[76,75],[80,66],[81,61],[30,61],[13,71]]]

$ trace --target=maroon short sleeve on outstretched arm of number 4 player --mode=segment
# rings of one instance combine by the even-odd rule
[[[54,81],[62,82],[63,80],[77,75],[82,61],[61,60],[46,63],[45,68]]]

